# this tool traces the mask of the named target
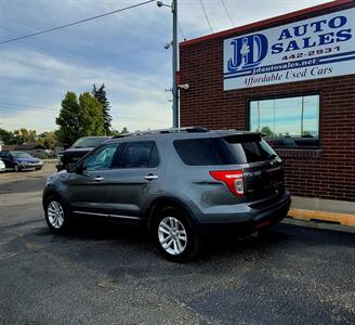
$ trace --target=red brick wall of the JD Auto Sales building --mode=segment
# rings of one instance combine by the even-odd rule
[[[180,77],[190,86],[181,91],[183,127],[245,130],[248,100],[319,93],[320,150],[278,151],[287,186],[293,195],[355,202],[355,75],[224,91],[220,38],[182,46]]]

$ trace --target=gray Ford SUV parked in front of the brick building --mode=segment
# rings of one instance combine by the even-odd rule
[[[281,159],[261,134],[193,127],[108,140],[49,177],[45,220],[53,232],[75,217],[145,225],[173,261],[203,237],[262,231],[290,207]]]

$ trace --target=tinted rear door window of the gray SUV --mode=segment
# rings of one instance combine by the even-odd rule
[[[127,142],[120,159],[114,164],[118,168],[149,168],[159,165],[156,144],[153,141]]]

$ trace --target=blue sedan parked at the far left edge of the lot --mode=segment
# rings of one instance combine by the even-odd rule
[[[37,170],[43,167],[43,161],[35,158],[26,152],[0,152],[0,158],[5,164],[5,168],[21,171],[35,168]]]

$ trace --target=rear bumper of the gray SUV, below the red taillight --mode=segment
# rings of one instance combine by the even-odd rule
[[[265,203],[263,206],[238,205],[235,213],[219,213],[200,218],[200,227],[207,233],[241,232],[252,233],[265,226],[280,222],[287,217],[291,206],[291,196],[288,191],[276,200]],[[207,221],[207,222],[206,222]]]

